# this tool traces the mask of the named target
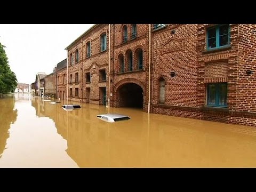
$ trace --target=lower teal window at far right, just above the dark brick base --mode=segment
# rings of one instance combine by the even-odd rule
[[[207,106],[227,107],[227,83],[207,84]]]

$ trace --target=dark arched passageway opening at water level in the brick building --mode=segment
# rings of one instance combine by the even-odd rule
[[[119,107],[143,108],[143,90],[135,83],[126,83],[118,89]]]

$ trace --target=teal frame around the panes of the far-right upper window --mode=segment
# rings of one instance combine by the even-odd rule
[[[228,26],[228,33],[227,34],[222,34],[220,35],[220,27],[222,26]],[[210,37],[209,38],[209,30],[215,29],[215,37]],[[226,45],[220,45],[220,37],[228,35],[228,43]],[[216,46],[215,47],[209,47],[209,40],[215,38]],[[228,24],[223,24],[223,25],[217,25],[214,27],[209,27],[206,29],[206,49],[207,50],[214,50],[214,49],[220,49],[224,47],[230,46],[230,26]]]

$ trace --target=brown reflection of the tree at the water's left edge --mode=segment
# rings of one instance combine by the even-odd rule
[[[5,149],[6,140],[9,138],[10,125],[16,121],[17,115],[12,97],[0,99],[0,158]]]

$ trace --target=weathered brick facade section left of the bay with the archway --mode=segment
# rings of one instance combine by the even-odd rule
[[[68,95],[70,100],[88,102],[92,104],[101,104],[106,101],[103,99],[103,90],[108,90],[108,26],[109,25],[94,25],[86,31],[73,44],[67,47],[68,50]],[[101,36],[106,34],[106,49],[101,49]],[[87,44],[90,43],[90,52],[87,50]],[[73,59],[72,54],[76,57],[76,50],[79,53],[78,62]],[[100,70],[106,71],[106,78],[100,79]],[[76,81],[76,73],[78,73],[78,81]],[[70,75],[72,80],[70,81]],[[90,79],[89,76],[90,75]],[[86,76],[87,80],[86,81]],[[72,89],[72,96],[70,91]],[[78,95],[75,90],[78,89]],[[105,101],[103,101],[105,100]]]

